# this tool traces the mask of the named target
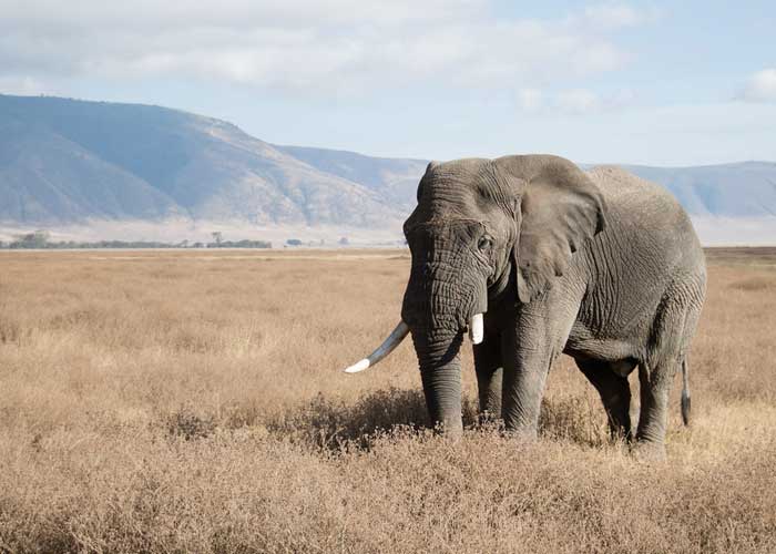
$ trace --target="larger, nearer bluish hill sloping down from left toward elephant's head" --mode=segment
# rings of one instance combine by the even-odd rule
[[[389,226],[402,212],[218,120],[164,107],[0,96],[0,220],[237,219]],[[377,186],[375,186],[377,185]]]

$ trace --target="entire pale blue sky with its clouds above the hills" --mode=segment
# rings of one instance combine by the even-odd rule
[[[0,92],[382,156],[774,161],[774,6],[0,0]]]

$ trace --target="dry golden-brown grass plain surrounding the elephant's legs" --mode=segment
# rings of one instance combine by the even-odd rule
[[[409,343],[340,373],[402,253],[0,253],[0,551],[774,552],[776,260],[709,259],[694,422],[645,465],[566,358],[530,447],[419,430]]]

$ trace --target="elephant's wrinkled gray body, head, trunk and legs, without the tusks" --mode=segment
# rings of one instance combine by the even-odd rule
[[[631,440],[627,376],[639,367],[636,449],[664,456],[668,391],[705,295],[703,250],[678,203],[617,167],[557,156],[429,164],[405,223],[412,266],[401,316],[432,423],[461,432],[459,348],[474,347],[480,409],[533,439],[544,382],[565,352]],[[683,416],[690,398],[683,396]]]

